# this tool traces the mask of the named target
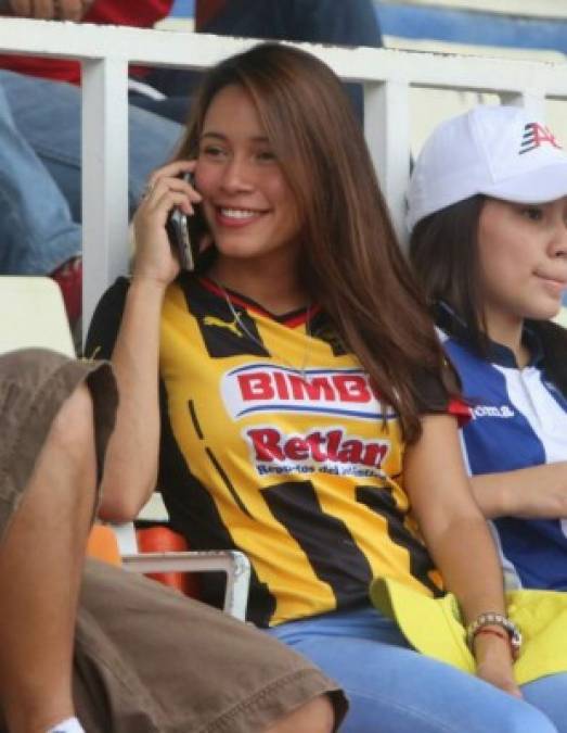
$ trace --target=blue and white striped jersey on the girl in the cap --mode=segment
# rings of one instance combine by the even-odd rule
[[[472,476],[511,471],[567,459],[567,399],[545,378],[541,345],[526,331],[532,354],[518,368],[514,354],[491,343],[475,351],[462,321],[448,309],[439,325],[446,352],[459,371],[473,419],[462,429]],[[492,527],[510,586],[567,590],[567,517],[502,517]]]

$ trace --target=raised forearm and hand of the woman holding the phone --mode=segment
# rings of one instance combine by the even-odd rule
[[[191,214],[201,199],[177,176],[194,167],[176,162],[155,172],[151,193],[134,216],[137,255],[112,362],[118,382],[116,427],[108,442],[103,519],[133,519],[155,489],[159,453],[159,325],[164,295],[179,273],[165,230],[173,205]]]

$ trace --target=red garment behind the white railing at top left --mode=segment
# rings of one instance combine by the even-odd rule
[[[173,0],[95,0],[82,23],[151,28],[169,14],[172,4]],[[77,61],[0,54],[0,68],[80,84],[80,64]]]

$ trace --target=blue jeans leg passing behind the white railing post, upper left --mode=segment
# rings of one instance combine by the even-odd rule
[[[0,89],[5,94],[21,136],[63,192],[73,219],[80,222],[80,89],[70,84],[2,69]],[[130,213],[142,195],[147,175],[171,156],[181,131],[182,128],[177,123],[130,105]],[[20,175],[18,168],[14,173]],[[26,180],[28,185],[33,185],[27,169]]]

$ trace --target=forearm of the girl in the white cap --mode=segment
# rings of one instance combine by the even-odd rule
[[[471,479],[473,493],[487,519],[567,518],[567,460],[530,466]]]

